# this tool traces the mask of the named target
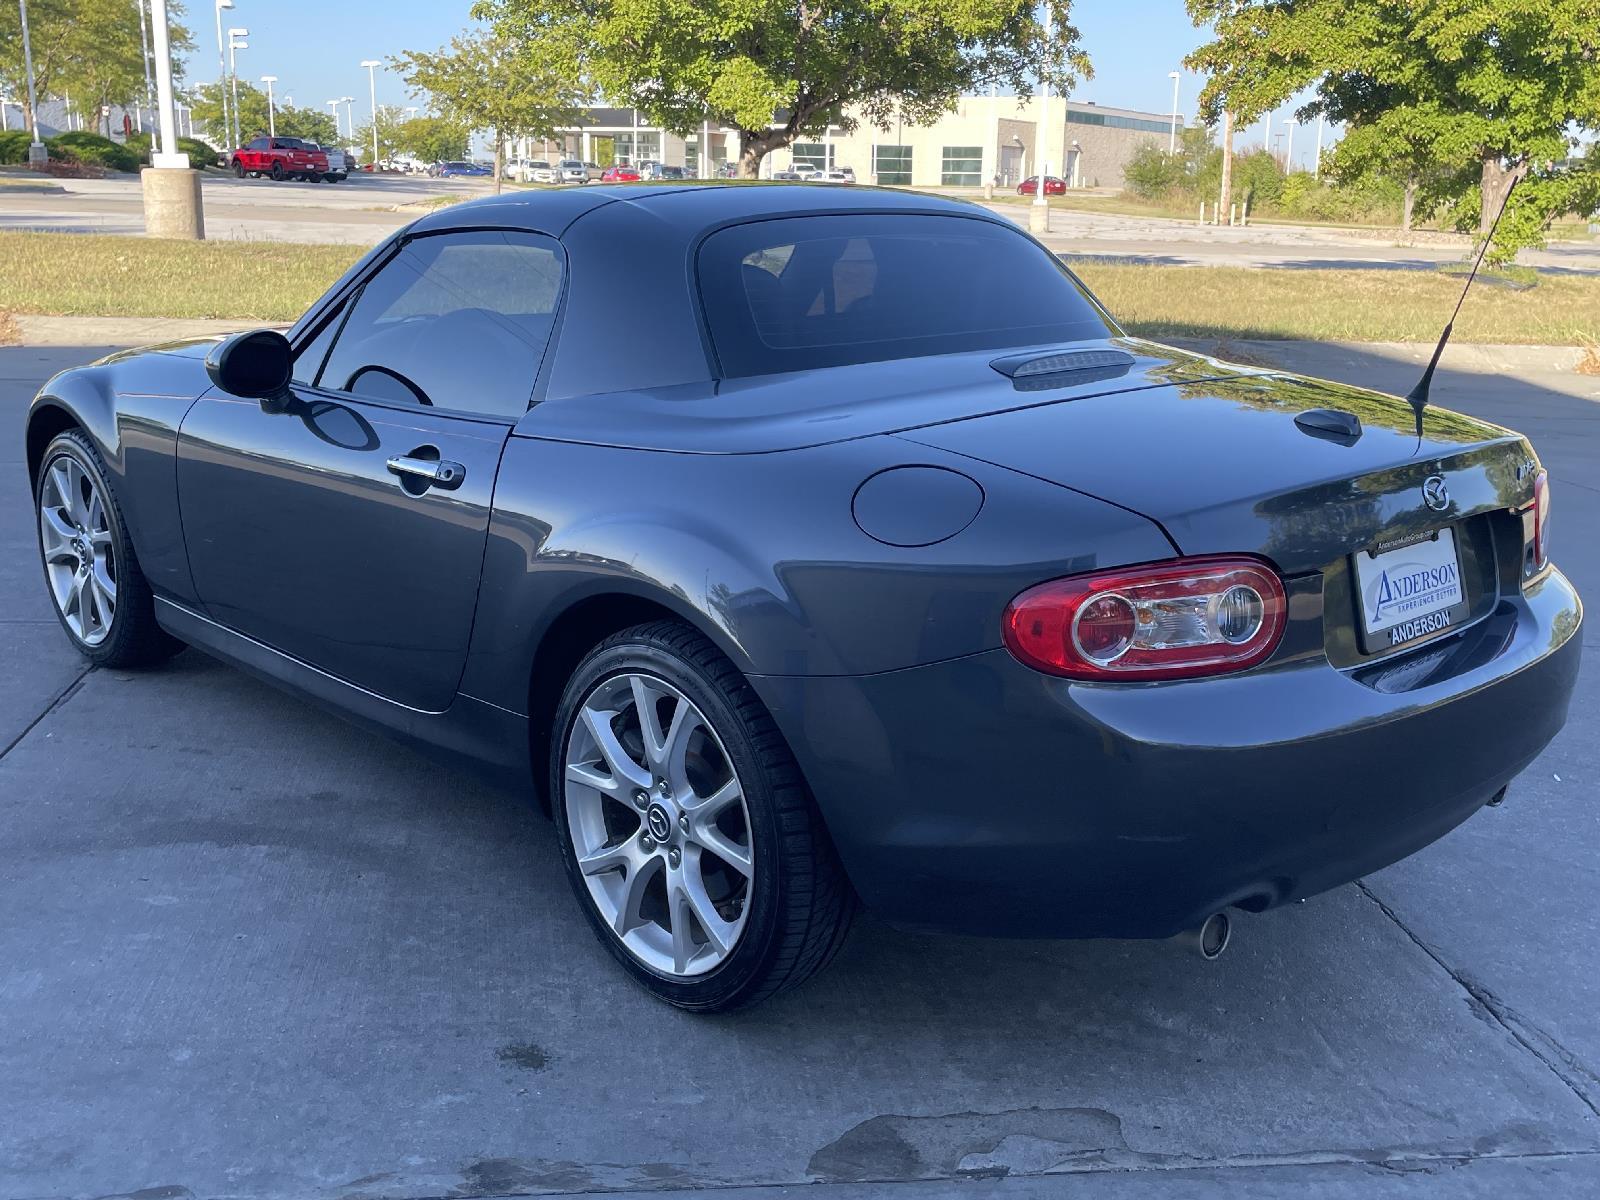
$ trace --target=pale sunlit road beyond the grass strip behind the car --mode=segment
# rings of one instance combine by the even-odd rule
[[[144,232],[138,179],[72,179],[62,187],[61,195],[0,187],[0,230]],[[392,211],[395,205],[488,190],[490,184],[478,179],[355,174],[342,184],[275,184],[213,173],[203,179],[206,237],[371,245],[419,213]],[[997,203],[994,211],[1027,224],[1026,205]],[[1216,229],[1195,221],[1090,213],[1066,203],[1051,206],[1043,240],[1062,254],[1171,266],[1432,270],[1466,253],[1464,243],[1400,246],[1387,235],[1326,226]],[[1550,274],[1600,275],[1600,240],[1552,242],[1546,250],[1525,250],[1518,261]]]

